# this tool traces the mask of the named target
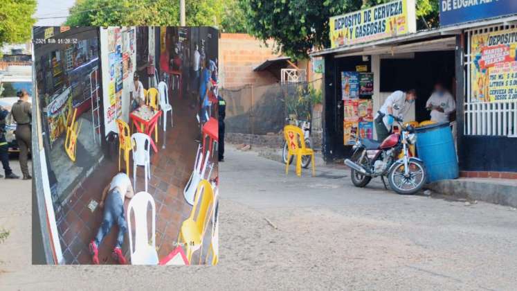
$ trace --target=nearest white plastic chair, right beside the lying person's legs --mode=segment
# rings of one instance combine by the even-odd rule
[[[152,232],[149,242],[147,233],[147,206],[151,204]],[[135,244],[133,245],[133,232],[131,229],[131,211],[135,217]],[[129,253],[131,254],[131,265],[158,265],[158,254],[156,253],[156,205],[151,194],[138,192],[129,200],[127,206],[127,229],[129,231]]]

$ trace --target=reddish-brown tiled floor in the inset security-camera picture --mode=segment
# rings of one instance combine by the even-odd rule
[[[199,142],[199,127],[195,110],[189,105],[192,100],[172,100],[174,108],[174,127],[167,120],[166,148],[163,149],[163,125],[158,132],[158,152],[151,157],[151,173],[149,193],[156,203],[156,247],[158,258],[163,258],[176,247],[181,222],[188,218],[192,206],[183,198],[183,188],[187,184],[192,169]],[[170,116],[169,116],[170,117]],[[77,155],[80,155],[78,152]],[[131,155],[131,154],[130,154]],[[212,159],[215,161],[216,155]],[[132,161],[129,164],[129,177],[133,177]],[[124,168],[122,163],[122,167]],[[124,170],[124,169],[123,169]],[[88,250],[89,242],[97,233],[102,221],[102,209],[97,207],[93,213],[87,207],[91,200],[100,201],[102,189],[110,182],[111,177],[118,173],[118,156],[105,157],[98,168],[85,179],[75,193],[66,201],[62,211],[56,213],[57,229],[67,264],[89,264],[91,256]],[[212,172],[217,177],[217,162]],[[143,168],[137,170],[135,193],[144,191]],[[127,209],[129,200],[125,200]],[[127,214],[127,212],[126,212]],[[211,224],[209,222],[206,240],[210,240]],[[118,227],[113,227],[108,236],[102,241],[99,249],[100,263],[116,263],[110,256],[116,242]],[[204,244],[206,245],[206,244]],[[203,247],[203,260],[208,248]],[[123,252],[129,261],[129,240],[125,238]],[[198,252],[199,253],[199,252]],[[199,261],[195,254],[192,263]]]

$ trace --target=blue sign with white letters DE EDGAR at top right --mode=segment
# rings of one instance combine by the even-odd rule
[[[487,19],[517,13],[516,0],[440,0],[439,25]]]

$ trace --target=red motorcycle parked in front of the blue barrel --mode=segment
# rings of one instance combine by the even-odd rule
[[[401,128],[400,133],[390,134],[384,141],[357,139],[350,159],[352,183],[365,187],[374,177],[388,178],[390,188],[399,194],[415,194],[426,184],[427,173],[424,162],[412,156],[410,145],[415,145],[417,135],[411,125],[403,126],[401,118],[392,116]],[[387,187],[386,187],[387,188]]]

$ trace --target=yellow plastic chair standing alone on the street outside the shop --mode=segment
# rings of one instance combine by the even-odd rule
[[[312,175],[316,175],[316,166],[314,166],[314,150],[305,148],[305,139],[303,131],[300,127],[294,125],[285,125],[284,139],[287,142],[287,161],[291,160],[291,156],[296,155],[296,175],[302,175],[302,156],[311,156]],[[300,146],[301,145],[301,146]],[[285,164],[285,174],[289,173],[289,162]]]

